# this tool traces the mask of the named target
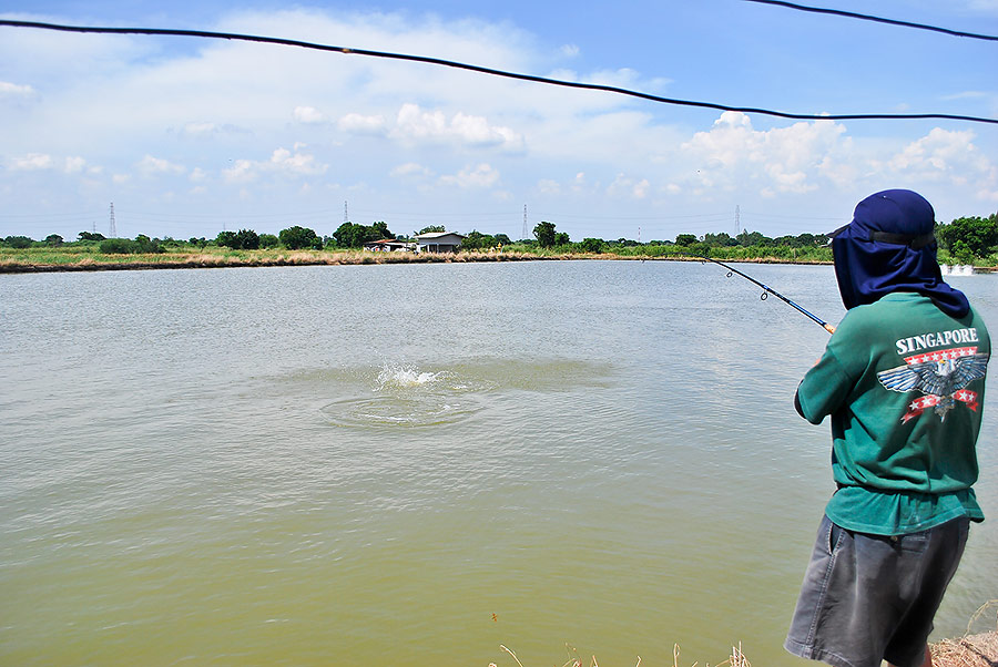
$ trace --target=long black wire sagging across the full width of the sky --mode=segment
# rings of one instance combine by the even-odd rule
[[[787,113],[782,111],[774,111],[771,109],[761,109],[755,106],[733,106],[727,104],[719,104],[714,102],[697,102],[694,100],[678,100],[674,98],[663,98],[660,95],[652,95],[650,93],[643,93],[640,91],[629,90],[624,88],[618,88],[614,85],[602,85],[598,83],[582,83],[578,81],[564,81],[560,79],[549,79],[547,76],[534,76],[532,74],[520,74],[517,72],[509,72],[506,70],[496,70],[492,68],[485,68],[481,65],[475,65],[464,62],[457,62],[452,60],[444,60],[441,58],[431,58],[428,55],[413,55],[406,53],[393,53],[389,51],[370,51],[367,49],[354,49],[350,47],[336,47],[332,44],[319,44],[315,42],[305,42],[301,40],[291,40],[285,38],[276,38],[276,37],[263,37],[263,35],[254,35],[254,34],[240,34],[234,32],[212,32],[205,30],[177,30],[170,28],[100,28],[94,25],[62,25],[57,23],[41,23],[37,21],[13,21],[8,19],[0,19],[0,27],[10,27],[10,28],[32,28],[39,30],[55,30],[61,32],[78,32],[78,33],[99,33],[99,34],[146,34],[146,35],[161,35],[161,37],[193,37],[193,38],[204,38],[204,39],[218,39],[218,40],[232,40],[232,41],[243,41],[243,42],[257,42],[265,44],[278,44],[283,47],[297,47],[302,49],[313,49],[316,51],[327,51],[335,53],[344,53],[348,55],[367,55],[371,58],[385,58],[389,60],[404,60],[410,62],[421,62],[434,65],[441,65],[447,68],[455,68],[459,70],[467,70],[470,72],[478,72],[481,74],[489,74],[492,76],[501,76],[505,79],[516,79],[519,81],[530,81],[533,83],[543,83],[547,85],[557,85],[562,88],[573,88],[573,89],[582,89],[582,90],[591,90],[591,91],[602,91],[608,93],[615,93],[620,95],[628,95],[631,98],[639,98],[642,100],[649,100],[651,102],[659,102],[662,104],[673,104],[678,106],[695,106],[701,109],[713,109],[716,111],[733,111],[741,112],[746,114],[758,114],[758,115],[768,115],[775,116],[780,119],[790,119],[797,121],[857,121],[857,120],[883,120],[883,121],[900,121],[900,120],[948,120],[948,121],[964,121],[968,123],[989,123],[998,125],[998,119],[987,119],[981,116],[969,116],[969,115],[958,115],[958,114],[946,114],[946,113],[847,113],[847,114],[805,114],[805,113]]]

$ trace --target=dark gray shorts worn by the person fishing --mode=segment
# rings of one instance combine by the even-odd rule
[[[824,516],[784,647],[836,667],[918,667],[969,525],[961,516],[892,537]]]

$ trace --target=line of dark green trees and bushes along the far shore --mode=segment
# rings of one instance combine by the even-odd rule
[[[445,232],[442,225],[426,226],[413,236],[430,232]],[[204,249],[208,246],[225,247],[237,250],[256,250],[266,248],[299,249],[338,249],[361,248],[365,244],[381,239],[413,240],[410,236],[396,236],[388,229],[385,222],[376,222],[371,225],[343,223],[332,235],[319,236],[314,229],[294,225],[282,229],[278,234],[257,234],[253,229],[238,229],[237,232],[220,232],[214,238],[192,237],[187,240],[179,240],[171,237],[150,238],[140,234],[134,239],[105,238],[103,235],[92,232],[80,232],[75,242],[65,242],[58,234],[50,234],[43,240],[34,240],[28,236],[8,236],[0,238],[0,245],[11,248],[30,247],[59,247],[63,245],[90,245],[98,246],[103,254],[136,254],[136,253],[163,253],[169,248],[193,246]],[[949,224],[937,223],[936,238],[939,247],[946,252],[953,263],[972,264],[976,259],[987,259],[995,256],[998,263],[998,213],[988,217],[960,217]],[[558,232],[554,223],[540,222],[533,228],[533,238],[512,240],[506,234],[486,234],[472,229],[465,235],[461,242],[464,250],[488,250],[492,248],[516,247],[530,252],[532,249],[552,250],[559,253],[587,253],[587,254],[689,254],[689,255],[723,255],[737,258],[745,250],[752,249],[755,254],[768,254],[775,257],[814,257],[822,258],[819,249],[825,246],[828,237],[824,234],[798,234],[778,236],[775,238],[763,235],[760,232],[744,230],[735,236],[724,232],[716,234],[678,234],[673,240],[649,240],[639,243],[628,238],[604,240],[602,238],[588,237],[573,243],[566,232]],[[665,250],[669,250],[668,253]]]

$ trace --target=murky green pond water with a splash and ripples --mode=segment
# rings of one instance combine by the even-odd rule
[[[750,273],[842,316],[827,267]],[[951,281],[998,329],[998,279]],[[791,401],[827,336],[753,289],[658,261],[0,276],[0,664],[803,665],[832,483]],[[987,401],[990,521],[940,636],[998,597]]]

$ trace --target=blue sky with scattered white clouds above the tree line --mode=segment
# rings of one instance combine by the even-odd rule
[[[998,0],[817,7],[998,34]],[[0,18],[279,37],[804,114],[998,119],[998,42],[745,0],[9,0]],[[432,64],[0,27],[0,237],[345,219],[572,240],[828,232],[882,189],[998,212],[998,125],[787,121]],[[526,234],[525,234],[526,230]]]

